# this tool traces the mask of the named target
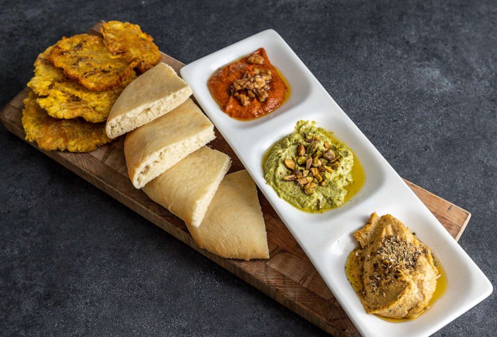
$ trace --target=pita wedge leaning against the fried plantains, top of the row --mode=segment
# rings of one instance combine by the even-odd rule
[[[105,131],[116,138],[165,115],[191,93],[174,69],[161,62],[123,90],[110,110]]]

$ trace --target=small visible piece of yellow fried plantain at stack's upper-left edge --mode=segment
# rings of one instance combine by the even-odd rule
[[[35,61],[35,76],[28,82],[28,87],[38,95],[48,95],[54,83],[67,80],[62,69],[54,67],[49,61],[52,48],[54,46],[48,47],[38,55]]]

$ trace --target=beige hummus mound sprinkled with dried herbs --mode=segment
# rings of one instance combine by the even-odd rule
[[[423,312],[439,276],[430,249],[389,214],[373,213],[354,237],[361,248],[350,253],[346,273],[366,311],[390,318]]]

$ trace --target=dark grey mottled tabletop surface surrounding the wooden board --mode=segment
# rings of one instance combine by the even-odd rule
[[[274,28],[402,177],[472,213],[459,242],[495,285],[495,1],[78,3],[1,2],[1,106],[101,19],[185,63]],[[1,335],[325,335],[3,126],[0,144]],[[435,335],[494,335],[496,310]]]

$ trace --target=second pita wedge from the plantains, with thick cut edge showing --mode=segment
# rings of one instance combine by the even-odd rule
[[[133,186],[141,189],[215,138],[214,125],[191,99],[126,135],[124,156]]]

